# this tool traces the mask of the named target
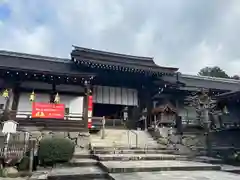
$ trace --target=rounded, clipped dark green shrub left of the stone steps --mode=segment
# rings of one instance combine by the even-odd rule
[[[74,153],[74,144],[66,138],[45,138],[40,141],[38,157],[42,165],[68,162]]]

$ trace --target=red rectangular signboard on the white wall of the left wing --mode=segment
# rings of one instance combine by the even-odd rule
[[[32,104],[32,118],[64,119],[65,105],[53,103]]]

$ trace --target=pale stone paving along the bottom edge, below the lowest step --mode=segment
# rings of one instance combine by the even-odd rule
[[[161,171],[110,174],[115,180],[239,180],[240,175],[221,171]]]

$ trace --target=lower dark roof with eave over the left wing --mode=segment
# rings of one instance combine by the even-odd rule
[[[95,73],[82,73],[69,59],[0,51],[0,74],[5,78],[81,83]]]

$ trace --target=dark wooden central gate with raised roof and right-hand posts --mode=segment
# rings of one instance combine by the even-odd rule
[[[153,58],[138,57],[111,52],[92,50],[74,46],[72,61],[80,71],[96,73],[92,85],[134,88],[138,91],[139,105],[134,107],[129,117],[130,128],[135,128],[143,109],[147,109],[147,121],[152,120],[152,99],[160,87],[174,83],[163,81],[164,76],[176,76],[178,68],[161,67]],[[156,83],[157,82],[157,83]]]

